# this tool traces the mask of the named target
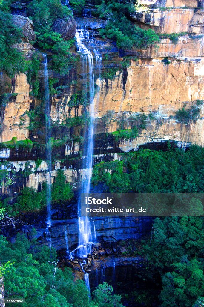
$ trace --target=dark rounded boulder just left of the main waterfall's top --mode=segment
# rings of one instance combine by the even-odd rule
[[[58,18],[53,25],[53,30],[60,33],[65,41],[75,36],[76,21],[73,17],[69,16],[65,19]]]

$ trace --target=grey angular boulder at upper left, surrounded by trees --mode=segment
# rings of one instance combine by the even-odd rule
[[[13,24],[23,30],[23,39],[29,43],[35,41],[35,32],[32,20],[21,15],[12,15]]]

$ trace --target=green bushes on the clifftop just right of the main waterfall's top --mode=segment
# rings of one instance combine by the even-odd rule
[[[116,41],[118,48],[123,50],[147,48],[159,41],[159,36],[154,30],[140,29],[129,21],[127,14],[135,10],[130,3],[102,0],[96,7],[99,17],[107,20],[106,28],[100,30],[100,35]]]

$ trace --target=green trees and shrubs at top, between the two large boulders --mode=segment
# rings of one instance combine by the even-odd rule
[[[52,27],[57,18],[69,17],[71,10],[62,6],[59,0],[33,0],[28,4],[27,14],[34,22],[36,44],[40,49],[54,53],[52,68],[61,76],[68,74],[75,61],[69,53],[74,40],[64,41]]]

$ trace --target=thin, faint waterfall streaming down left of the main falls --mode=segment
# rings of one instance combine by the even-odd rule
[[[48,241],[48,246],[51,247],[51,235],[49,231],[49,227],[51,226],[51,119],[50,119],[50,92],[49,92],[49,82],[48,82],[48,68],[47,68],[47,55],[43,53],[43,64],[44,64],[44,99],[45,99],[45,117],[46,117],[46,160],[48,163],[48,171],[47,171],[47,195],[46,195],[46,203],[47,203],[47,227],[46,227],[46,240]]]

